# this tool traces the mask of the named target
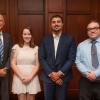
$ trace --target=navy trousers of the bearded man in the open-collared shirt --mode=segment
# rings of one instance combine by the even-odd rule
[[[64,83],[61,86],[54,83],[44,83],[45,100],[67,100],[67,88],[68,83]]]

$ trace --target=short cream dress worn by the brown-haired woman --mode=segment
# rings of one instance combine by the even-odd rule
[[[19,47],[17,44],[13,46],[17,58],[17,67],[22,72],[23,75],[28,75],[31,73],[36,62],[36,55],[38,55],[38,47]],[[12,82],[12,92],[14,94],[29,93],[37,94],[41,91],[38,76],[36,75],[33,79],[26,85],[23,84],[16,74],[13,75]]]

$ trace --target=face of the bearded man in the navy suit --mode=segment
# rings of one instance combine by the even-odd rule
[[[52,32],[59,33],[60,31],[62,31],[62,28],[63,28],[63,22],[62,22],[61,18],[59,18],[59,17],[52,18],[52,20],[51,20]]]

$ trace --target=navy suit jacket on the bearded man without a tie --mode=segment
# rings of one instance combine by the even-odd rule
[[[52,82],[48,75],[53,71],[62,71],[64,82],[72,78],[71,66],[75,61],[76,44],[72,36],[61,34],[57,54],[55,58],[54,39],[50,34],[43,38],[39,48],[39,60],[41,64],[40,78],[45,82]]]

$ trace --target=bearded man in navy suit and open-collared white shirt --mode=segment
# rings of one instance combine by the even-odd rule
[[[66,100],[71,67],[75,61],[76,44],[72,36],[64,34],[63,19],[55,15],[50,19],[51,34],[40,43],[39,59],[45,100]],[[55,97],[55,98],[54,98]]]

